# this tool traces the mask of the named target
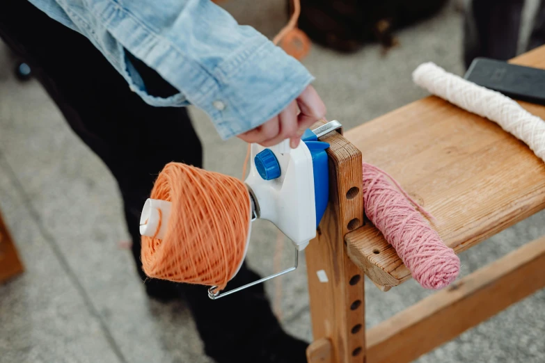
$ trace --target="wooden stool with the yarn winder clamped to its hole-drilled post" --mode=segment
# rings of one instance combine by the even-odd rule
[[[545,47],[513,63],[545,68]],[[520,104],[545,118],[544,106]],[[366,332],[362,272],[384,291],[411,273],[364,220],[362,155],[436,217],[457,253],[545,209],[545,163],[498,125],[437,97],[322,140],[331,144],[331,199],[306,249],[308,362],[411,362],[545,287],[544,237]]]

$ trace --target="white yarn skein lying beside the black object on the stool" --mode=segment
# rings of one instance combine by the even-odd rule
[[[433,95],[496,122],[545,161],[545,121],[526,111],[513,99],[448,73],[431,62],[423,63],[414,70],[413,81]]]

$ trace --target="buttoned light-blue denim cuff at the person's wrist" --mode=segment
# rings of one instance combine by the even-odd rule
[[[248,56],[224,63],[214,86],[193,104],[213,120],[223,139],[242,134],[278,115],[314,80],[299,61],[266,40]]]

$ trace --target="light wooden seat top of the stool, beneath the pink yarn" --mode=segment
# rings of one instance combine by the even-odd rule
[[[545,47],[512,63],[545,69]],[[545,119],[545,106],[519,102]],[[430,96],[347,131],[363,161],[390,173],[436,218],[459,253],[545,209],[545,163],[497,124]],[[345,237],[347,253],[383,287],[411,273],[368,221]]]

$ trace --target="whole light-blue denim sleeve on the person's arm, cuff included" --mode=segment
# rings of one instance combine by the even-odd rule
[[[145,102],[193,104],[223,139],[274,117],[313,81],[299,61],[210,0],[29,1],[85,35]],[[127,52],[180,93],[148,95]]]

